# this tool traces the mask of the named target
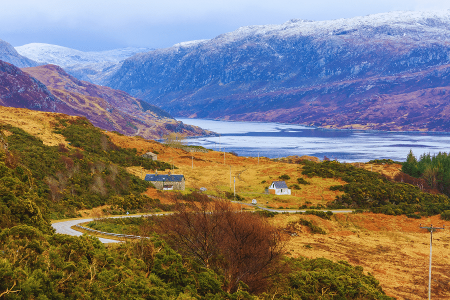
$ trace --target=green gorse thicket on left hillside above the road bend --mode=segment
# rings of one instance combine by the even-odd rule
[[[151,183],[127,173],[123,167],[142,164],[147,168],[165,168],[169,165],[139,157],[135,154],[135,149],[117,147],[85,119],[72,123],[60,120],[57,124],[57,131],[66,136],[71,145],[60,143],[57,146],[47,146],[19,128],[3,125],[0,131],[3,129],[12,135],[4,138],[8,149],[0,153],[4,172],[9,174],[1,179],[4,181],[3,186],[10,185],[14,191],[9,189],[12,193],[8,194],[3,188],[4,195],[0,195],[3,207],[0,208],[0,213],[4,216],[4,225],[0,224],[2,228],[7,227],[6,223],[10,226],[38,222],[39,216],[28,217],[28,220],[25,216],[29,214],[21,213],[23,220],[18,221],[17,217],[11,215],[12,208],[16,212],[19,209],[14,203],[22,203],[20,207],[26,203],[20,200],[22,194],[30,201],[30,205],[37,206],[36,209],[26,209],[32,209],[43,220],[50,216],[74,217],[76,209],[106,203],[113,204],[116,209],[137,210],[148,209],[152,204],[157,204],[141,195],[152,186]],[[73,145],[80,149],[74,149]],[[39,228],[45,231],[42,226]]]

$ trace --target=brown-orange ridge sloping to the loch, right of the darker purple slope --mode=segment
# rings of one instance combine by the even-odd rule
[[[173,131],[187,135],[211,134],[197,126],[176,121],[162,109],[126,92],[80,81],[57,65],[47,64],[22,70],[42,81],[55,98],[74,111],[60,109],[57,112],[85,116],[102,129],[144,138],[159,138]]]

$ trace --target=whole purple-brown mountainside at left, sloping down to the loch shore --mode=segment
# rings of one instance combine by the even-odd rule
[[[0,60],[0,105],[87,117],[108,131],[144,138],[212,132],[186,125],[121,90],[80,81],[53,64],[19,69]]]

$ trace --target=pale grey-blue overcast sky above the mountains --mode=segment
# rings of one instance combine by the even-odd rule
[[[240,26],[393,10],[448,9],[449,0],[3,0],[0,39],[83,51],[169,47]]]

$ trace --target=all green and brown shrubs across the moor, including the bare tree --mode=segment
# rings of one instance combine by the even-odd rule
[[[286,256],[288,237],[269,221],[274,213],[235,213],[228,201],[195,191],[178,194],[172,205],[161,204],[143,195],[151,185],[125,168],[162,170],[169,164],[117,146],[83,118],[59,118],[54,131],[70,144],[47,146],[22,129],[1,125],[0,298],[391,299],[361,266]],[[446,207],[443,195],[348,164],[302,163],[306,176],[347,182],[332,187],[343,191],[330,203],[336,207],[384,213],[393,207],[394,214],[432,214]],[[313,185],[312,179],[283,175]],[[410,193],[418,201],[406,196]],[[422,210],[395,210],[402,203]],[[133,230],[148,238],[107,246],[87,235],[55,234],[49,225],[50,219],[103,204],[111,207],[106,213],[164,207],[175,213],[116,220],[122,224],[111,230]],[[306,217],[299,221],[311,233],[326,233]]]

